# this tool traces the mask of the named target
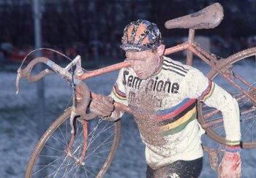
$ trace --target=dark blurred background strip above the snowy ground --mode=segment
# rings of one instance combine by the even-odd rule
[[[82,56],[90,65],[113,63],[124,58],[118,48],[124,27],[132,20],[151,20],[160,28],[167,47],[181,43],[187,29],[167,30],[165,21],[213,4],[214,0],[42,0],[42,44],[73,58]],[[226,57],[256,44],[256,1],[219,0],[225,17],[217,28],[196,31],[205,36],[213,53]],[[0,61],[17,63],[34,49],[32,0],[0,0]],[[61,56],[45,51],[56,60]],[[84,64],[83,63],[83,64]]]

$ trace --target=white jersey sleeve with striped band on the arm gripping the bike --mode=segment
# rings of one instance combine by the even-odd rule
[[[115,84],[113,85],[110,96],[113,98],[114,101],[117,101],[118,103],[128,106],[126,89],[123,84],[123,73],[124,73],[124,69],[121,69],[119,71],[118,78],[117,78]],[[114,120],[117,120],[122,115],[124,115],[124,112],[117,111],[115,109],[115,111],[112,113],[112,115],[110,117],[112,117]]]

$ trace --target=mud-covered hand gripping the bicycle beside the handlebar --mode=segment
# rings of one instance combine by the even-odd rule
[[[99,117],[109,117],[113,112],[113,98],[99,95],[93,98],[90,104],[90,112],[94,112]]]

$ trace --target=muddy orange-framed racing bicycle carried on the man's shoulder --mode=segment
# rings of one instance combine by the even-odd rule
[[[250,78],[246,77],[246,79],[241,77],[242,74],[239,70],[246,63],[249,63],[252,67],[254,62],[252,57],[256,56],[256,47],[230,55],[228,58],[219,59],[217,55],[209,53],[195,42],[195,30],[215,28],[222,21],[222,18],[222,6],[215,3],[191,15],[168,20],[165,23],[166,28],[188,28],[189,38],[187,42],[167,48],[165,55],[187,50],[188,65],[192,65],[192,57],[195,54],[211,67],[211,71],[207,75],[208,78],[217,83],[220,80],[219,85],[221,86],[223,84],[228,85],[228,92],[238,101],[241,111],[241,147],[253,148],[256,147],[254,140],[256,80],[253,78],[255,70],[252,71]],[[31,76],[31,70],[37,63],[45,63],[51,70],[45,69],[39,74]],[[83,80],[123,67],[129,67],[129,61],[89,72],[83,71],[80,56],[77,56],[65,68],[61,68],[50,59],[43,57],[35,58],[25,69],[21,69],[21,66],[18,69],[16,81],[17,92],[19,82],[23,77],[26,77],[29,82],[37,82],[42,77],[52,74],[53,71],[70,82],[74,91],[72,107],[66,109],[64,114],[50,125],[35,147],[26,169],[26,177],[42,177],[42,175],[43,177],[68,177],[69,175],[73,177],[79,177],[80,175],[84,177],[103,177],[115,155],[121,125],[119,120],[108,122],[100,118],[93,119],[95,115],[85,112],[91,97],[94,98],[97,95],[90,93]],[[75,66],[74,72],[72,71],[73,66]],[[117,102],[114,105],[125,112],[136,115],[127,106]],[[197,112],[198,120],[206,134],[219,144],[225,145],[225,131],[221,113],[217,109],[211,109],[202,103],[197,104]],[[59,139],[64,139],[64,141],[60,142]],[[99,142],[97,142],[97,139],[99,139]],[[52,155],[40,159],[46,157],[46,153]],[[215,157],[212,161],[216,166]],[[48,159],[48,162],[46,162],[46,159]]]

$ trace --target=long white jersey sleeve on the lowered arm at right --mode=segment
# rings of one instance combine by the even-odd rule
[[[208,107],[214,107],[222,112],[226,133],[226,144],[240,144],[240,115],[235,98],[216,83],[208,80],[202,72],[190,69],[185,80],[181,83],[181,92],[188,98],[197,98]]]

